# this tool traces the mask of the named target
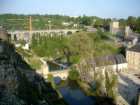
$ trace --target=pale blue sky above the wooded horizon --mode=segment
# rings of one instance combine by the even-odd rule
[[[0,0],[5,13],[127,18],[140,16],[140,0]]]

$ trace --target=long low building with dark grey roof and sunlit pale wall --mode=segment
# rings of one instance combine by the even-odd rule
[[[120,72],[127,69],[127,62],[123,55],[108,55],[95,58],[95,70],[97,69],[110,69],[114,72]]]

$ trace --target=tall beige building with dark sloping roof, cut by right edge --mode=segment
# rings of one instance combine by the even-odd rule
[[[136,70],[140,69],[140,44],[127,49],[126,59],[129,68]]]

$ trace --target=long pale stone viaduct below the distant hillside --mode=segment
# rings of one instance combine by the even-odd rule
[[[8,31],[8,34],[11,36],[11,40],[25,40],[29,41],[31,40],[33,35],[68,35],[69,32],[75,33],[77,32],[77,29],[55,29],[55,30],[33,30],[33,31]]]

